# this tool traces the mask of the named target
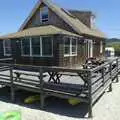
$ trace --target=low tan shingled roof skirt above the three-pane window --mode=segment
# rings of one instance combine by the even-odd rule
[[[21,37],[31,37],[31,36],[39,36],[39,35],[41,35],[41,36],[42,35],[56,35],[56,34],[80,37],[77,34],[68,32],[66,30],[60,29],[53,25],[47,25],[47,26],[32,27],[32,28],[24,29],[24,30],[16,32],[16,33],[1,36],[0,39],[13,39],[13,38],[21,38]]]

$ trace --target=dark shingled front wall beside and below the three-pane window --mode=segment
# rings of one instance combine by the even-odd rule
[[[30,64],[40,66],[59,66],[59,42],[61,36],[53,36],[53,57],[30,57],[21,55],[21,40],[12,40],[12,56],[17,64]]]

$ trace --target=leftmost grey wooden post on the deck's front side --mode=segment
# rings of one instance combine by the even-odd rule
[[[14,90],[14,82],[13,82],[13,67],[10,66],[10,81],[11,81],[11,101],[15,101],[15,90]]]

